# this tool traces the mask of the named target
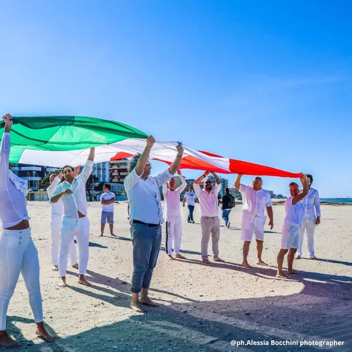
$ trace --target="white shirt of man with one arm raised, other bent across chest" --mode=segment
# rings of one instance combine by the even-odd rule
[[[72,194],[65,194],[61,197],[64,206],[64,218],[77,220],[77,210],[82,215],[87,215],[88,202],[86,196],[86,183],[93,171],[93,164],[94,161],[87,160],[82,172],[77,177],[73,178],[72,183],[69,183],[66,180],[60,183],[49,198],[49,200],[51,200],[51,198],[64,192],[66,189],[72,191]]]

